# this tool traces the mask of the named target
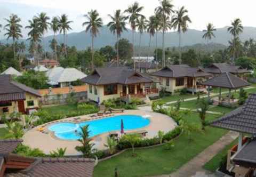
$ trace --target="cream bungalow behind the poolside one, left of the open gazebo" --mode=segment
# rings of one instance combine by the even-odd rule
[[[191,68],[188,65],[171,65],[151,73],[151,76],[158,78],[157,89],[166,89],[174,93],[187,88],[191,93],[206,92],[205,86],[199,85],[211,76],[201,68]]]

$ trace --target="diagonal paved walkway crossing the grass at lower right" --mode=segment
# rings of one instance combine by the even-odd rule
[[[178,171],[169,175],[159,175],[154,177],[214,177],[214,174],[203,169],[203,165],[211,160],[219,151],[238,137],[236,132],[228,132],[218,141],[202,151],[199,155],[191,159],[188,163],[179,168]],[[153,176],[152,176],[153,177]]]

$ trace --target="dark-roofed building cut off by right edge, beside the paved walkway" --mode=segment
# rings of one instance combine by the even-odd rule
[[[256,167],[256,94],[250,94],[242,107],[214,120],[211,126],[239,133],[238,145],[228,151],[227,170],[244,175]],[[247,138],[244,138],[246,134]],[[250,137],[251,136],[251,137]]]

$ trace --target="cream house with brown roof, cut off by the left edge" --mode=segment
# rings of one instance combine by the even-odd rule
[[[12,81],[11,75],[0,75],[0,115],[14,111],[28,114],[38,109],[39,97],[36,90]]]

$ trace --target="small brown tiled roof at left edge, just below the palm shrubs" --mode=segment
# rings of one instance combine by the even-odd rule
[[[21,142],[22,140],[20,139],[0,140],[0,154],[11,153],[19,144],[21,144]]]

